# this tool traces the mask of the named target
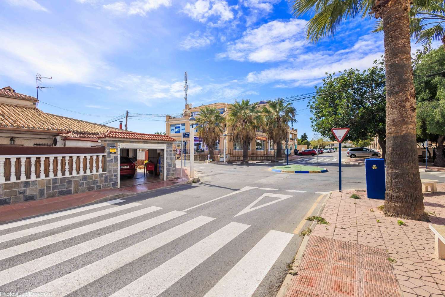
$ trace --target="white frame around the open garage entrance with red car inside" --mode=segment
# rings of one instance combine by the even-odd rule
[[[126,150],[128,149],[128,150]],[[166,172],[166,163],[167,163],[167,154],[166,154],[166,145],[165,144],[150,144],[150,143],[124,143],[119,142],[117,147],[117,187],[121,187],[121,156],[124,155],[129,159],[137,159],[137,150],[138,149],[148,149],[156,150],[156,162],[157,166],[160,167],[160,175],[162,176],[162,180],[166,180],[167,172]],[[160,159],[158,158],[160,157]],[[133,160],[132,159],[132,160]],[[161,163],[161,164],[158,164]]]

